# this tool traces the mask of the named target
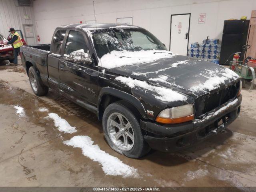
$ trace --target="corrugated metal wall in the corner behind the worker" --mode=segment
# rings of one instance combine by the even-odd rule
[[[25,19],[28,15],[29,19]],[[18,6],[17,0],[0,0],[0,32],[7,37],[9,28],[21,29],[24,34],[24,24],[34,24],[34,12],[32,7]],[[33,25],[34,26],[34,25]],[[35,26],[34,34],[36,34]],[[36,38],[25,38],[28,44],[36,43]]]

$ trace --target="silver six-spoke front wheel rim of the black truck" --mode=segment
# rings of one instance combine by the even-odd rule
[[[129,151],[134,146],[132,125],[122,114],[115,112],[108,116],[108,135],[113,144],[122,151]]]

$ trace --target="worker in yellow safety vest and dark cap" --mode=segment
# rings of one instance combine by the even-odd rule
[[[18,55],[20,54],[20,47],[23,45],[20,35],[14,30],[14,28],[10,28],[9,32],[12,33],[12,38],[5,45],[12,44],[13,52],[14,52],[14,60],[13,64],[18,65]]]

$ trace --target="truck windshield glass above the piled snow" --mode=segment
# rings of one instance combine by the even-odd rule
[[[92,31],[99,58],[112,51],[166,50],[150,32],[141,28],[112,28]]]

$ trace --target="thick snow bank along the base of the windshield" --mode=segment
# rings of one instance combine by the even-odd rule
[[[173,57],[174,54],[166,50],[140,50],[140,51],[112,51],[102,56],[99,66],[111,69],[137,63],[150,62],[160,58]]]

